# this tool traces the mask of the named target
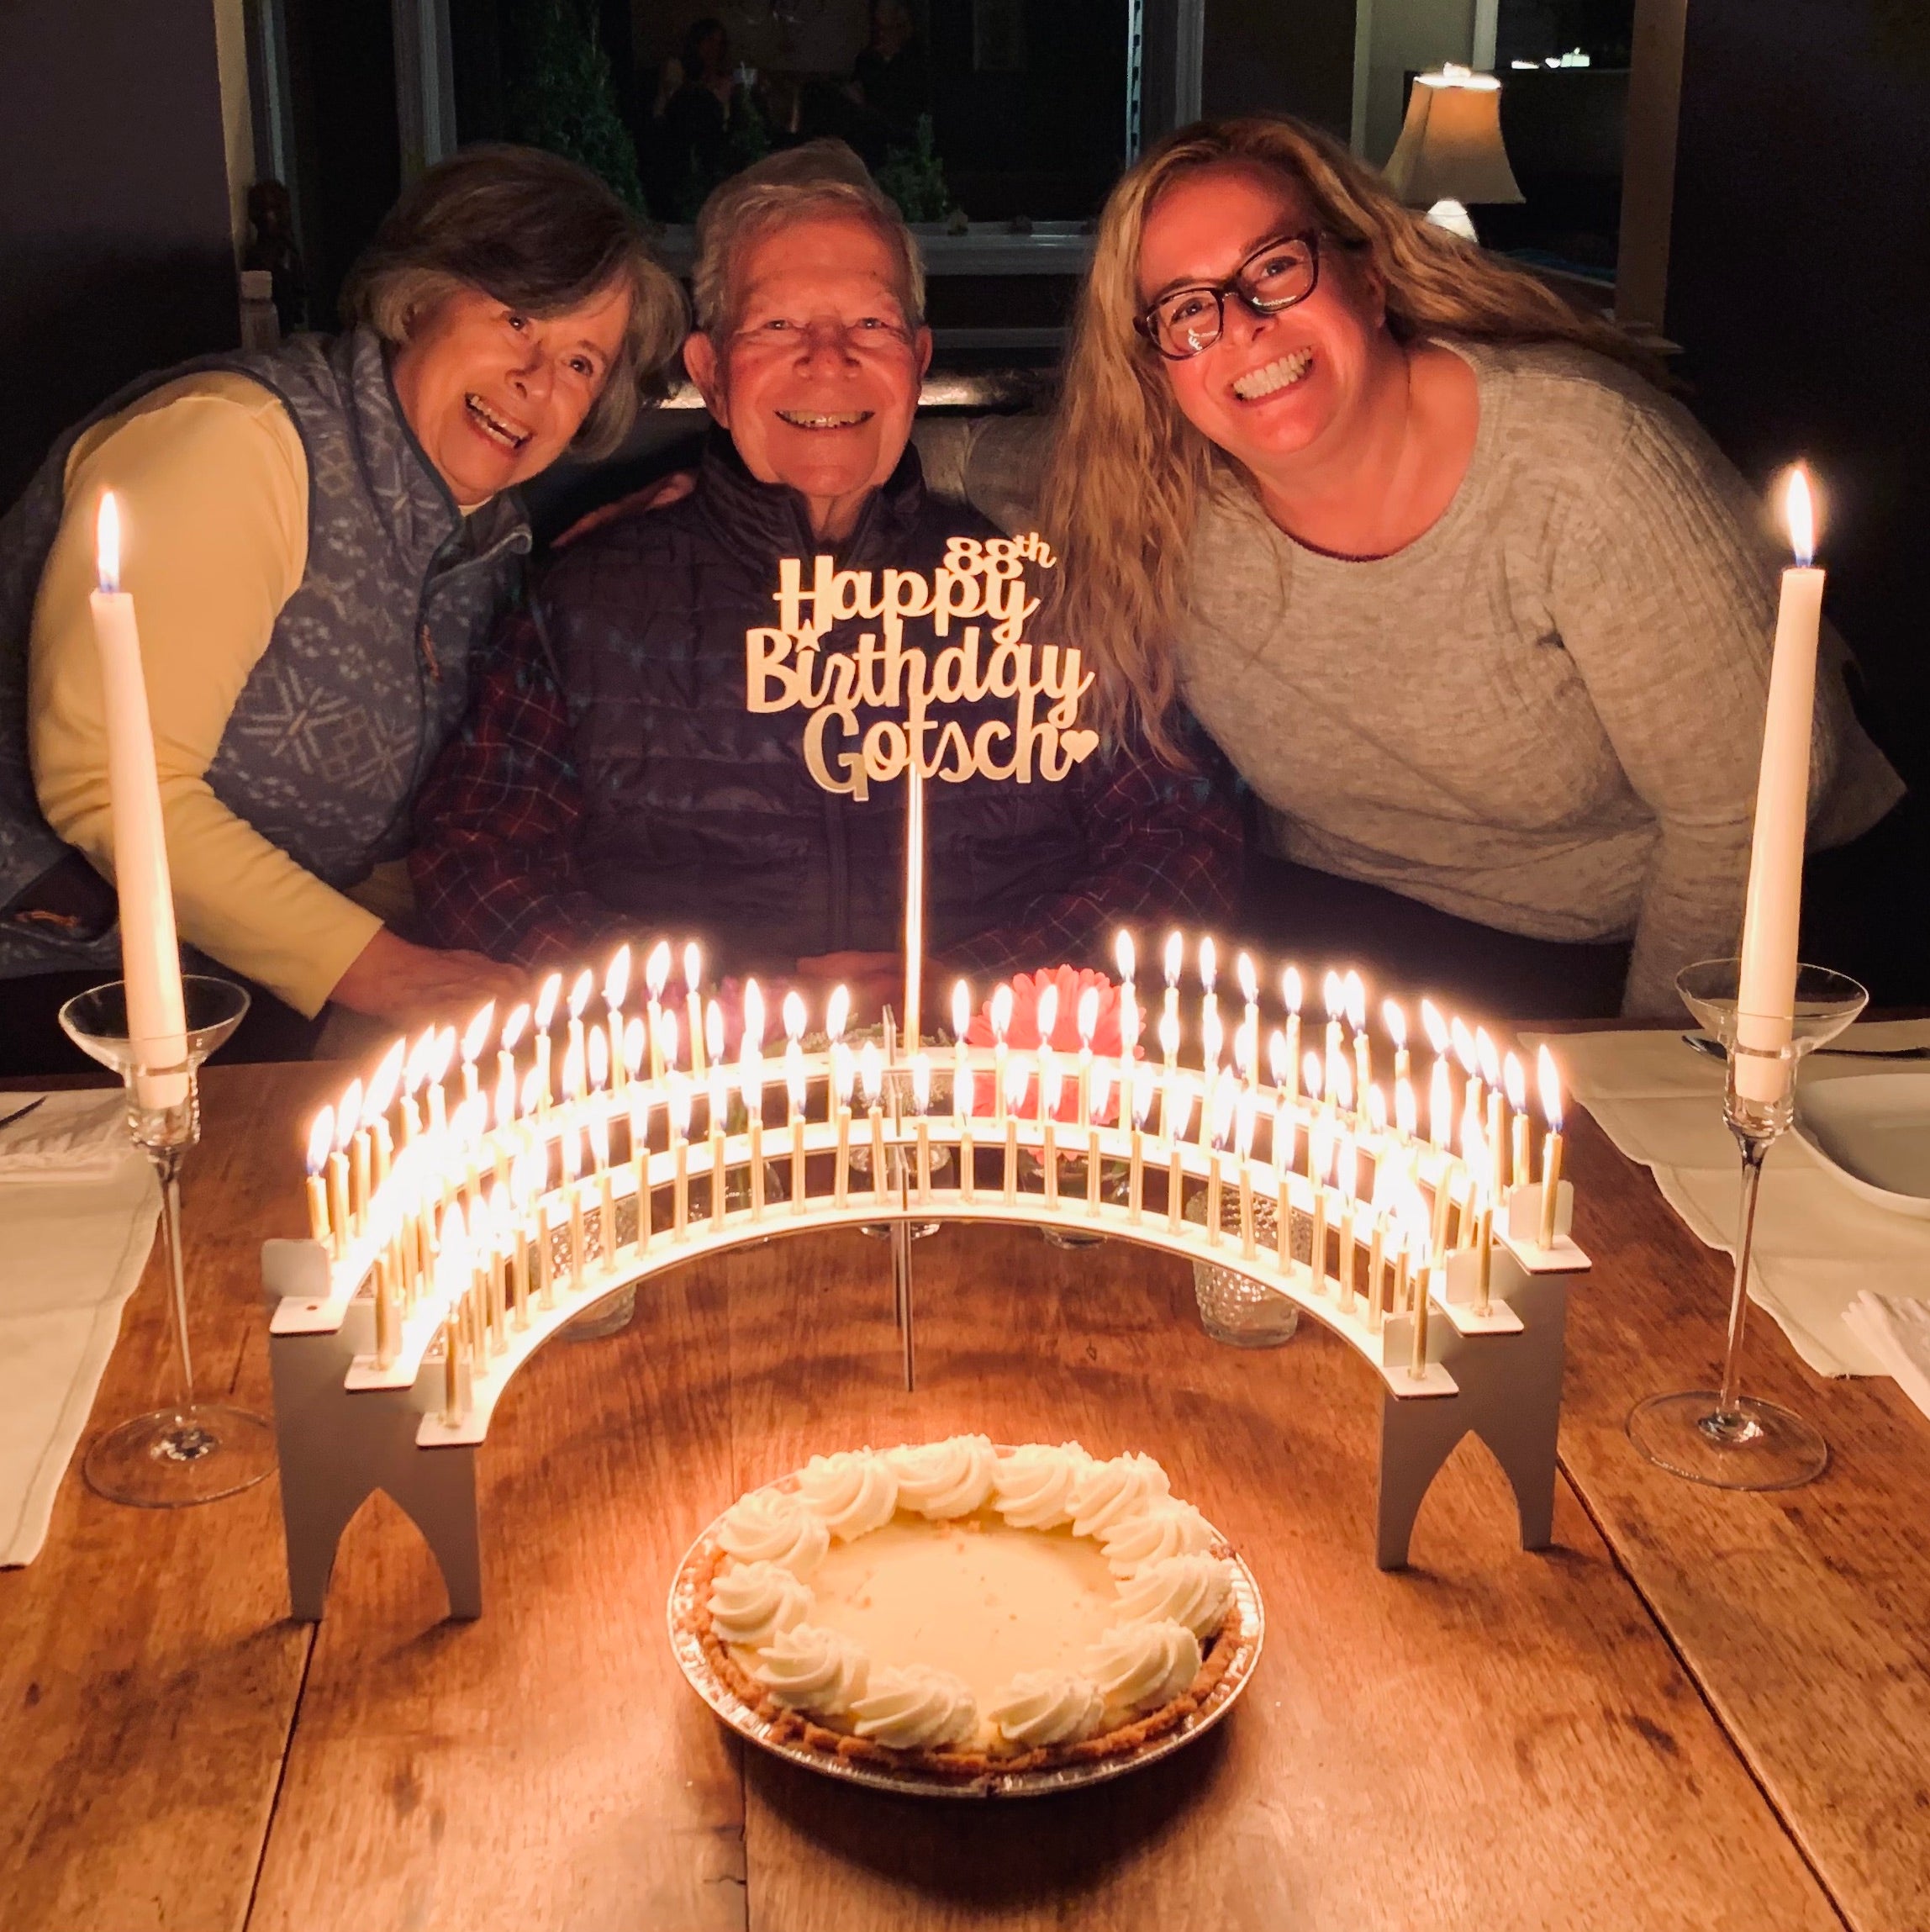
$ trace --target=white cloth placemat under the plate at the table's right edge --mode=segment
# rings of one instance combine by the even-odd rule
[[[1689,1231],[1735,1254],[1741,1157],[1721,1119],[1723,1066],[1683,1045],[1685,1026],[1658,1034],[1546,1036],[1569,1092],[1632,1161],[1656,1175],[1663,1200]],[[1544,1036],[1528,1036],[1528,1047]],[[1853,1026],[1837,1045],[1930,1043],[1926,1020]],[[1922,1061],[1851,1055],[1810,1057],[1804,1086],[1891,1072],[1922,1072]],[[1851,1194],[1802,1144],[1785,1134],[1762,1173],[1748,1298],[1766,1308],[1802,1360],[1824,1376],[1891,1374],[1860,1325],[1845,1320],[1864,1291],[1903,1302],[1930,1293],[1930,1221],[1887,1213]]]

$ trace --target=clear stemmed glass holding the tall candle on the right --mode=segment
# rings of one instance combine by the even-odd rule
[[[1804,1053],[1835,1039],[1862,1012],[1870,995],[1845,974],[1799,966],[1789,1039],[1781,1045],[1752,1045],[1737,1037],[1739,981],[1739,960],[1702,960],[1675,976],[1683,1003],[1729,1057],[1723,1119],[1743,1150],[1743,1206],[1737,1217],[1735,1289],[1729,1296],[1721,1389],[1652,1395],[1636,1403],[1629,1410],[1629,1441],[1650,1463],[1716,1490],[1797,1490],[1824,1472],[1830,1445],[1791,1410],[1739,1393],[1756,1190],[1764,1155],[1795,1119],[1797,1063]]]

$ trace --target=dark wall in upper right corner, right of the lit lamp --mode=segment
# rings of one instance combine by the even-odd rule
[[[1808,458],[1864,721],[1930,784],[1930,6],[1694,0],[1669,251],[1690,404],[1752,481]],[[1897,881],[1922,895],[1922,881]]]

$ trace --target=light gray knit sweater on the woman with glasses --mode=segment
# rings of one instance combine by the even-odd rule
[[[1480,429],[1441,520],[1341,562],[1244,489],[1194,537],[1186,703],[1277,848],[1536,939],[1632,939],[1629,1014],[1677,1018],[1690,960],[1735,949],[1779,556],[1762,506],[1673,402],[1565,348],[1449,344]],[[1020,527],[1047,425],[922,425],[931,485]],[[1826,639],[1810,844],[1903,784]]]

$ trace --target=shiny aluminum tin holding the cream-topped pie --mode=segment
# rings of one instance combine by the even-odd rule
[[[777,1719],[761,1716],[726,1685],[703,1654],[703,1644],[694,1629],[692,1611],[697,1607],[697,1578],[703,1575],[717,1530],[724,1520],[719,1515],[703,1534],[684,1551],[684,1561],[676,1567],[670,1582],[670,1602],[667,1617],[670,1625],[670,1650],[678,1667],[690,1679],[692,1690],[711,1706],[713,1712],[738,1737],[769,1750],[777,1758],[817,1772],[821,1777],[835,1777],[848,1785],[869,1785],[873,1791],[898,1791],[923,1799],[1041,1799],[1059,1791],[1078,1791],[1084,1785],[1105,1783],[1111,1777],[1124,1777],[1128,1772],[1144,1770],[1161,1758],[1171,1758],[1175,1750],[1184,1750],[1196,1737],[1211,1731],[1221,1718],[1233,1710],[1260,1663],[1260,1648],[1265,1642],[1265,1611],[1260,1604],[1260,1582],[1238,1555],[1233,1565],[1233,1602],[1240,1607],[1240,1631],[1233,1638],[1233,1656],[1221,1671],[1206,1702],[1182,1718],[1171,1731],[1148,1739],[1134,1750],[1122,1750],[1113,1758],[1097,1758],[1092,1764],[1063,1764],[1036,1772],[987,1772],[978,1777],[945,1777],[937,1772],[894,1770],[879,1764],[860,1764],[840,1758],[829,1750],[817,1750],[796,1739],[775,1737]],[[1221,1544],[1225,1538],[1213,1532]]]

